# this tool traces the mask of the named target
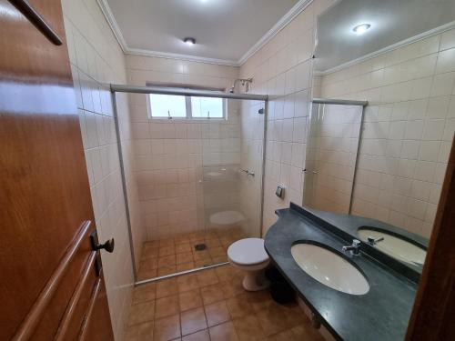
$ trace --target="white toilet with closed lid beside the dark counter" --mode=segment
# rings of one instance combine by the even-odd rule
[[[245,290],[257,291],[268,286],[268,281],[264,277],[264,269],[270,263],[270,258],[264,248],[264,239],[240,239],[229,246],[227,257],[232,266],[245,272],[242,282]]]

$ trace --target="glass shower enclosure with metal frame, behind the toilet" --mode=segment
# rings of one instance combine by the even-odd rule
[[[153,86],[111,88],[133,93],[141,103],[149,94],[223,98],[223,118],[147,116],[144,125],[152,153],[136,156],[140,162],[135,173],[147,237],[139,246],[131,234],[130,243],[133,250],[142,249],[134,256],[136,284],[226,264],[228,246],[261,235],[267,96]],[[175,134],[168,135],[170,130]]]

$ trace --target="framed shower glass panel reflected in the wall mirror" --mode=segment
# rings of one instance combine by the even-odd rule
[[[303,205],[350,212],[363,106],[313,104]]]

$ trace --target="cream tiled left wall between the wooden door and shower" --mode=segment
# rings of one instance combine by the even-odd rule
[[[134,279],[113,107],[103,84],[126,83],[124,55],[96,0],[64,0],[63,10],[98,236],[100,241],[116,240],[114,253],[102,252],[101,256],[112,324],[116,340],[121,340]],[[126,96],[120,95],[117,103],[127,165],[132,153]],[[140,240],[136,183],[128,167],[126,179],[133,232]]]

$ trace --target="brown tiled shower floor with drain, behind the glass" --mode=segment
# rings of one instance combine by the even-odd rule
[[[240,227],[231,227],[146,242],[137,278],[143,280],[227,262],[227,247],[246,236]],[[197,244],[207,247],[197,251]]]

